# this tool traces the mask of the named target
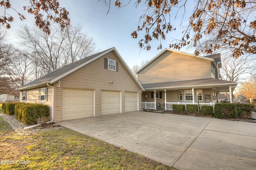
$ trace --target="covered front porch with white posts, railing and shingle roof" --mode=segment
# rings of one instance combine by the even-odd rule
[[[220,102],[220,92],[232,91],[237,83],[219,79],[199,79],[142,85],[142,109],[173,110],[173,105],[211,105]]]

